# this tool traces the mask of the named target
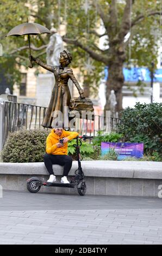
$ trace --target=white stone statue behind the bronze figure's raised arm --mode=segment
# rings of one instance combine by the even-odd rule
[[[59,66],[60,52],[64,50],[63,39],[57,33],[57,29],[51,28],[50,32],[52,35],[50,36],[49,43],[46,48],[47,64],[51,66]]]

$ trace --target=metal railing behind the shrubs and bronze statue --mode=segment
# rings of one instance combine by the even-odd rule
[[[14,101],[1,101],[1,145],[4,145],[9,132],[18,130],[45,129],[41,126],[45,117],[47,107],[30,105],[27,103],[17,103]],[[3,105],[3,106],[2,106]],[[96,136],[98,131],[111,132],[117,131],[117,124],[120,119],[110,116],[104,118],[101,115],[94,115],[94,120],[76,119],[75,131],[80,135]],[[1,146],[1,147],[2,147]]]

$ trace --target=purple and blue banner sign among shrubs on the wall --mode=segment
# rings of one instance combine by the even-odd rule
[[[118,154],[117,160],[122,160],[128,156],[144,156],[144,143],[122,143],[122,142],[101,142],[102,155],[107,154],[110,149],[114,149]]]

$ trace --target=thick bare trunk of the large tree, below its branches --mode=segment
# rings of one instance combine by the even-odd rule
[[[120,112],[122,110],[122,86],[124,83],[123,62],[117,59],[116,62],[110,63],[108,66],[109,75],[106,82],[106,103],[104,111],[110,110],[109,96],[111,90],[114,90],[117,101],[115,111]]]

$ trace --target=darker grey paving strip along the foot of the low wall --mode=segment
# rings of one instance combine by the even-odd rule
[[[131,218],[136,214],[136,209],[143,209],[141,214],[145,215],[144,209],[162,208],[162,198],[154,197],[129,197],[129,196],[79,196],[78,194],[52,194],[52,193],[30,193],[21,191],[3,191],[0,198],[0,211],[26,211],[26,210],[84,210],[97,209],[134,209]],[[83,210],[83,212],[82,212]],[[119,211],[121,212],[121,211]],[[27,214],[27,213],[26,213]],[[70,212],[69,212],[70,214]],[[59,216],[59,215],[58,215]],[[77,217],[75,215],[75,217]],[[111,218],[114,218],[111,211]],[[145,215],[145,219],[147,220]],[[118,216],[122,221],[122,216]],[[129,220],[129,216],[127,217]]]

